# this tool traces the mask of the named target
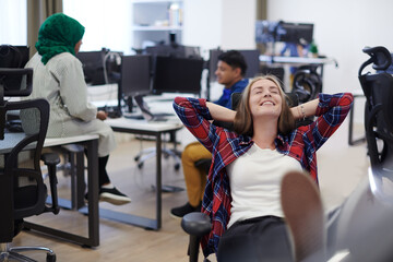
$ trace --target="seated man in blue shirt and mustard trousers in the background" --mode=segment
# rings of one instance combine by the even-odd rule
[[[229,50],[218,56],[215,75],[217,82],[224,85],[223,94],[216,105],[231,108],[231,94],[241,93],[248,84],[245,79],[247,63],[242,55],[237,50]],[[201,211],[201,201],[206,184],[206,172],[195,167],[195,162],[212,158],[200,142],[193,142],[186,146],[181,154],[181,164],[187,187],[188,202],[184,205],[174,207],[170,214],[175,218],[181,218],[193,211]]]

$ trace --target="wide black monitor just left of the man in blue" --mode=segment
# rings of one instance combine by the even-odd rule
[[[153,93],[201,93],[203,59],[156,57]]]

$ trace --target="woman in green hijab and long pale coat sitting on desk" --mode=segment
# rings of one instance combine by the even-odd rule
[[[74,19],[57,13],[40,26],[37,53],[27,62],[33,68],[33,92],[28,98],[50,104],[48,138],[98,134],[99,199],[126,204],[131,199],[117,190],[106,171],[109,153],[116,147],[114,131],[104,121],[107,115],[87,102],[87,86],[81,61],[75,57],[84,27]],[[23,120],[23,115],[21,115]]]

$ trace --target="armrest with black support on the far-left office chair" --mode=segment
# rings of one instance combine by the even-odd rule
[[[49,184],[50,184],[50,195],[51,195],[51,206],[46,206],[46,212],[52,212],[55,215],[59,214],[60,207],[58,203],[58,192],[57,192],[57,176],[56,176],[56,165],[60,163],[60,157],[55,153],[46,153],[41,155],[41,160],[45,165],[48,166],[49,175]]]

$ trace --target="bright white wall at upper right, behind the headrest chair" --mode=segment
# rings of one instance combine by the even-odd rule
[[[338,62],[338,68],[325,67],[327,93],[360,88],[358,69],[368,59],[364,47],[385,46],[393,51],[392,10],[390,0],[267,0],[267,20],[314,23],[320,53]],[[361,122],[362,110],[355,114]]]

